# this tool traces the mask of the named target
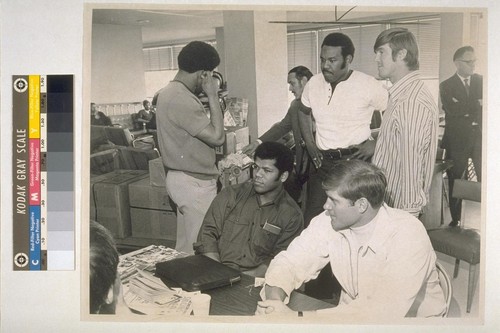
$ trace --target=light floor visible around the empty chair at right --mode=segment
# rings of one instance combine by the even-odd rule
[[[480,203],[476,202],[465,202],[464,213],[462,216],[462,223],[467,228],[474,228],[481,230],[481,206]],[[464,218],[465,217],[465,218]],[[446,206],[444,209],[444,222],[449,223],[451,221],[450,212]],[[466,262],[460,262],[460,270],[458,277],[453,279],[453,269],[455,267],[455,258],[447,256],[445,254],[436,253],[438,261],[443,265],[444,269],[450,276],[452,287],[453,287],[453,298],[450,305],[450,311],[448,317],[461,317],[461,318],[477,318],[479,316],[479,294],[480,286],[482,282],[481,270],[478,270],[477,286],[474,293],[474,298],[472,300],[472,307],[470,313],[466,312],[467,305],[467,284],[469,279],[469,264]],[[481,300],[484,302],[484,300]]]

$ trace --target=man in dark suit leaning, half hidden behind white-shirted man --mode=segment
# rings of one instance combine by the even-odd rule
[[[305,150],[304,140],[299,127],[299,105],[302,91],[307,81],[313,74],[304,66],[297,66],[288,72],[288,85],[289,90],[295,96],[295,99],[290,103],[288,112],[279,123],[274,124],[266,133],[259,139],[244,147],[242,152],[247,155],[252,155],[257,146],[262,142],[278,141],[285,134],[292,131],[295,141],[295,173],[288,178],[285,183],[285,189],[290,196],[298,202],[302,185],[307,181],[309,172],[309,156]]]

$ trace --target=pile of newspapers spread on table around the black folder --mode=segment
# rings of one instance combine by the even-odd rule
[[[191,297],[199,292],[170,288],[154,276],[157,262],[186,257],[174,249],[150,245],[120,256],[118,274],[123,285],[123,297],[129,308],[147,315],[189,315]]]

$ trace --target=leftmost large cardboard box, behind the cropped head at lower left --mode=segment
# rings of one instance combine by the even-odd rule
[[[115,170],[90,180],[90,218],[106,227],[113,237],[131,236],[128,185],[147,177],[143,170]]]

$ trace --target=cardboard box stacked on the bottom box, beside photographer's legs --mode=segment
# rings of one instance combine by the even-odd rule
[[[128,186],[130,207],[174,211],[173,203],[164,186],[152,186],[149,177]]]

